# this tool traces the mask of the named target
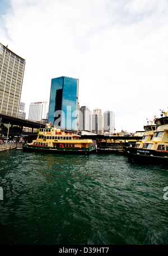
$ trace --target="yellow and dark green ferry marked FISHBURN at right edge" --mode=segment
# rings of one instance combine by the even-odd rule
[[[144,126],[144,136],[134,147],[124,146],[124,153],[133,162],[168,164],[168,112],[162,111],[155,124]]]

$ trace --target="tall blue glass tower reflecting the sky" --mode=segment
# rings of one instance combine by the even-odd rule
[[[52,79],[49,104],[49,122],[60,129],[78,129],[78,83],[71,77]]]

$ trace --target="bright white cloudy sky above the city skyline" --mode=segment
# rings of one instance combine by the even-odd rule
[[[167,111],[167,0],[0,0],[0,41],[26,60],[21,101],[48,101],[52,78],[79,79],[79,103],[143,131]]]

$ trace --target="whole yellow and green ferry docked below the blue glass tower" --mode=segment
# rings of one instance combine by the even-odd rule
[[[46,124],[45,128],[39,129],[37,139],[25,144],[23,150],[87,155],[96,152],[96,147],[92,139],[82,139],[78,134],[62,132],[51,124]]]

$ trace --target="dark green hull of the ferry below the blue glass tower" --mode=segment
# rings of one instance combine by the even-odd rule
[[[52,147],[35,147],[35,146],[23,146],[23,150],[27,152],[43,152],[43,153],[62,153],[67,155],[90,155],[91,153],[96,152],[96,149],[94,147],[92,148],[52,148]]]

